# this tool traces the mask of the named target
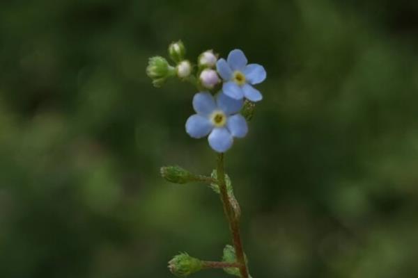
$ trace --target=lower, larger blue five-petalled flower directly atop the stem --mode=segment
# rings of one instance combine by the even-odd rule
[[[209,92],[198,92],[193,97],[196,114],[186,122],[186,132],[192,138],[208,136],[210,147],[216,152],[226,152],[233,143],[233,138],[247,135],[248,126],[245,118],[238,114],[243,99],[231,99],[219,92],[216,99]]]

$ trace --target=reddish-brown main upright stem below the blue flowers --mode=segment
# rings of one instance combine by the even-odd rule
[[[217,179],[219,184],[219,191],[221,195],[222,204],[224,205],[224,213],[226,219],[229,222],[229,229],[232,234],[233,247],[235,248],[235,256],[239,263],[239,269],[241,278],[249,278],[247,262],[245,261],[244,248],[242,247],[242,241],[240,236],[240,223],[238,215],[235,215],[233,206],[228,197],[228,191],[226,190],[225,183],[225,170],[224,170],[224,154],[218,154],[217,157]],[[237,202],[238,203],[238,202]]]

